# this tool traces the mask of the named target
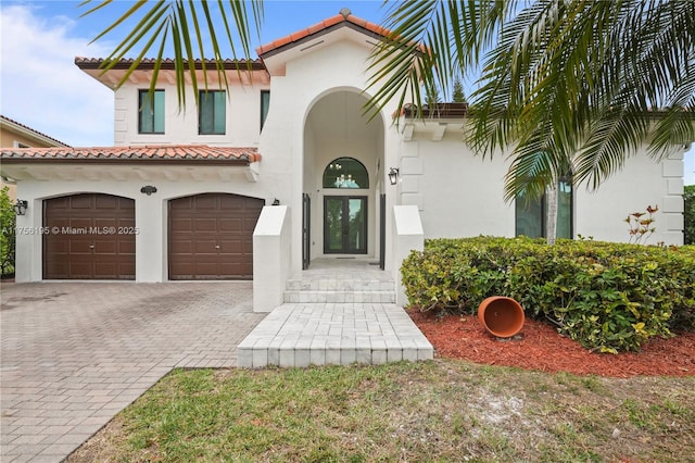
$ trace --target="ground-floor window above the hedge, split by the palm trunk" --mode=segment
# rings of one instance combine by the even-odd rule
[[[557,238],[572,238],[572,183],[561,178],[557,184]],[[522,195],[516,199],[516,235],[541,238],[546,236],[547,197],[529,200]]]

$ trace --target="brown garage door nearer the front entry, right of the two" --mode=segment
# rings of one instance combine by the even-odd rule
[[[264,203],[225,193],[169,201],[169,279],[251,279]]]

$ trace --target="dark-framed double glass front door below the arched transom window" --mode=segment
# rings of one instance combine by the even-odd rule
[[[324,198],[324,253],[367,253],[367,197]]]

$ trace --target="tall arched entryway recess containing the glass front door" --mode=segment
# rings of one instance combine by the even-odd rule
[[[352,89],[318,99],[304,127],[304,267],[321,256],[377,259],[384,129]]]

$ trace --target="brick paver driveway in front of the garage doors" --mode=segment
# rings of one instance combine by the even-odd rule
[[[61,461],[173,367],[236,366],[250,281],[3,284],[2,462]]]

